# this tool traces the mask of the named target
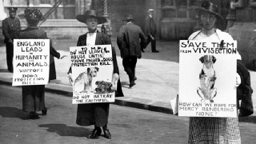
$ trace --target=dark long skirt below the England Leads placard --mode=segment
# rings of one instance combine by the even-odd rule
[[[45,108],[45,85],[22,86],[22,110],[40,111]]]

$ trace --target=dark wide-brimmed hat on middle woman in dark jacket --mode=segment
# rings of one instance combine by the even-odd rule
[[[85,14],[80,14],[76,18],[79,22],[82,23],[86,23],[86,19],[88,18],[96,18],[98,20],[98,24],[106,22],[106,18],[99,17],[95,10],[86,10]]]

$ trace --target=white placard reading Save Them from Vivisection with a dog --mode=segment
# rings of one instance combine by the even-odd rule
[[[178,116],[237,116],[237,42],[180,41]]]

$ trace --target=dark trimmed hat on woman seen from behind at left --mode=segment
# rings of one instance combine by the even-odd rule
[[[34,19],[38,21],[44,21],[45,18],[42,15],[42,12],[38,9],[28,9],[24,10],[24,14],[18,14],[18,17],[21,19]]]

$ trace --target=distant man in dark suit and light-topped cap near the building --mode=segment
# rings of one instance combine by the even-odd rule
[[[157,27],[155,25],[154,18],[153,18],[154,10],[150,9],[148,10],[148,13],[149,15],[146,17],[146,26],[145,26],[145,34],[147,37],[146,46],[151,42],[151,52],[159,53],[159,51],[156,48],[156,40],[155,40],[155,34],[157,34]],[[144,52],[143,49],[142,49],[142,52]]]

